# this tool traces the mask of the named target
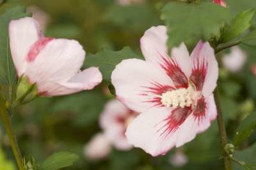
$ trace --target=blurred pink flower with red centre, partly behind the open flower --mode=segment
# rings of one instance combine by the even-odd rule
[[[118,150],[130,150],[132,144],[127,142],[125,130],[137,114],[118,100],[109,101],[100,116],[100,126],[109,141]]]

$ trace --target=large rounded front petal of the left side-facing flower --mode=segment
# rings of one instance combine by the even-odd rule
[[[36,56],[28,56],[33,60],[27,61],[25,75],[38,86],[48,81],[67,82],[79,72],[84,56],[83,47],[75,40],[51,40]]]

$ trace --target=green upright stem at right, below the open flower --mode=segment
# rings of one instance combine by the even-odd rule
[[[223,120],[223,114],[221,112],[220,92],[218,87],[216,87],[214,91],[214,99],[215,99],[217,111],[218,111],[217,121],[218,121],[218,126],[220,131],[221,152],[224,157],[225,169],[232,170],[232,162],[230,160],[229,155],[225,151],[225,146],[226,144],[228,144],[228,137],[227,137],[227,132],[225,128],[225,121]]]

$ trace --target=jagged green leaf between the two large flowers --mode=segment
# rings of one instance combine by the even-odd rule
[[[130,47],[124,47],[124,49],[119,51],[103,49],[97,54],[88,54],[84,66],[98,66],[102,72],[103,79],[111,82],[111,73],[115,66],[123,59],[129,58],[139,58]]]

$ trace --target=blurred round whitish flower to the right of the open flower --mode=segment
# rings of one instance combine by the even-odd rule
[[[229,54],[222,58],[223,65],[230,72],[239,72],[246,61],[246,53],[240,47],[232,47]]]

